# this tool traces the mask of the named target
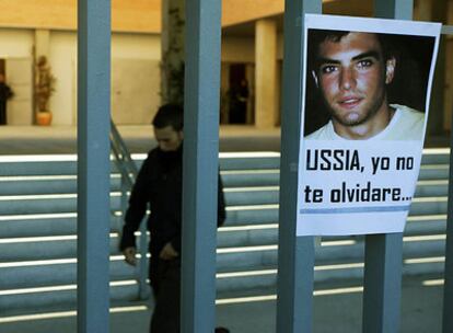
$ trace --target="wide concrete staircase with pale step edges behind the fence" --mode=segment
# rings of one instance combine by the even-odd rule
[[[136,156],[138,163],[144,156]],[[275,291],[278,153],[223,153],[228,215],[218,233],[218,297]],[[76,307],[74,156],[0,157],[0,317]],[[449,150],[423,153],[404,239],[404,274],[442,274]],[[138,299],[138,273],[118,252],[120,180],[112,170],[112,301]],[[363,274],[363,238],[323,238],[315,280]]]

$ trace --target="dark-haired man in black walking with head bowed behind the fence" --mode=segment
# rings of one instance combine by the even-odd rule
[[[179,332],[181,239],[183,184],[183,108],[174,104],[161,106],[152,122],[158,147],[148,153],[132,188],[120,241],[126,262],[136,264],[133,232],[148,209],[151,233],[149,277],[155,308],[150,332]],[[219,176],[218,218],[225,219],[222,183]],[[228,332],[228,331],[225,331]]]

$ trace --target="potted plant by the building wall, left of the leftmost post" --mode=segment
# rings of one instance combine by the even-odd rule
[[[40,56],[36,64],[36,83],[35,83],[35,101],[36,101],[36,124],[50,125],[51,112],[48,108],[50,96],[55,92],[56,79],[51,74],[50,66],[47,58]]]

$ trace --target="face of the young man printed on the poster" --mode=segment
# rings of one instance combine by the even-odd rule
[[[349,33],[339,42],[324,41],[318,58],[313,77],[334,125],[358,126],[387,116],[385,84],[393,79],[395,59],[383,59],[375,34]]]

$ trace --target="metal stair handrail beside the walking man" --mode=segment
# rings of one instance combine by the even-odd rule
[[[121,175],[121,217],[125,217],[127,203],[128,203],[128,193],[130,193],[133,183],[138,175],[138,168],[132,160],[129,149],[127,148],[125,141],[121,138],[118,129],[115,126],[115,123],[111,119],[111,148],[114,156],[114,163],[116,169]],[[148,276],[148,239],[147,239],[147,223],[146,217],[140,222],[140,261],[137,266],[136,276],[139,284],[139,296],[140,299],[147,299],[150,296],[150,287],[147,283]]]

